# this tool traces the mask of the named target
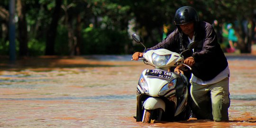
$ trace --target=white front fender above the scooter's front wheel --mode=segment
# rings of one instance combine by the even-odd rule
[[[149,97],[144,101],[143,107],[145,110],[163,109],[165,111],[165,102],[160,98]]]

